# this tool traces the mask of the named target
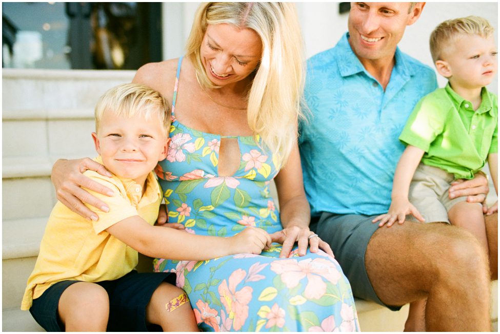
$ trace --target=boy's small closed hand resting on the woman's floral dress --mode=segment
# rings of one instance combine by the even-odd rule
[[[230,239],[232,254],[261,254],[263,249],[271,247],[271,237],[262,228],[248,226]]]

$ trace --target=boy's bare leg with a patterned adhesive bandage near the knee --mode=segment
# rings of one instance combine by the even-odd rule
[[[178,307],[168,305],[171,301],[175,304],[183,294],[184,290],[175,285],[160,284],[146,306],[146,321],[162,326],[163,331],[199,331],[189,301]]]

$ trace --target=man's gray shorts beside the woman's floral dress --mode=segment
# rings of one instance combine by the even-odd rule
[[[351,284],[354,297],[372,300],[397,311],[402,306],[384,304],[375,294],[366,273],[366,247],[378,228],[377,224],[371,222],[375,217],[376,215],[335,215],[324,212],[317,224],[311,224],[311,229],[330,244],[335,260],[341,265]]]

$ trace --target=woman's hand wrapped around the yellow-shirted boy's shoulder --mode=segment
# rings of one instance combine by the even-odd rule
[[[114,192],[108,187],[84,176],[82,173],[87,170],[95,171],[103,176],[112,176],[102,164],[89,158],[76,160],[59,159],[52,167],[50,179],[54,184],[57,199],[59,201],[78,215],[89,220],[97,220],[99,219],[98,216],[91,211],[84,202],[106,212],[109,211],[109,207],[105,202],[90,195],[81,187],[86,187],[107,196],[113,196]]]

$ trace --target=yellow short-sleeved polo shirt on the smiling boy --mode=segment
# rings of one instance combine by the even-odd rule
[[[102,163],[100,157],[94,159]],[[135,268],[137,251],[116,239],[106,228],[132,216],[140,216],[153,225],[162,201],[158,182],[151,172],[142,186],[130,179],[116,176],[108,178],[93,171],[84,175],[109,187],[113,197],[89,191],[102,199],[109,212],[91,210],[99,215],[98,221],[89,221],[57,202],[50,214],[40,245],[35,268],[28,279],[21,309],[31,307],[33,299],[40,297],[52,284],[65,280],[101,282],[116,280]]]

